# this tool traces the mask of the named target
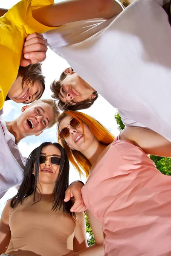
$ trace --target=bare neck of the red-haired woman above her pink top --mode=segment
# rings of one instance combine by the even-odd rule
[[[95,140],[89,148],[81,151],[81,153],[84,154],[93,166],[100,160],[105,148],[107,148],[107,145],[103,145],[98,140]]]

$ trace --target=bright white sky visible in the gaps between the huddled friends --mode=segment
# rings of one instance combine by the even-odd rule
[[[0,8],[10,8],[14,4],[19,2],[18,0],[1,0]],[[59,2],[59,0],[55,0],[55,2]],[[60,74],[63,72],[65,68],[69,67],[67,61],[63,58],[56,55],[50,49],[47,51],[46,60],[43,61],[42,64],[42,72],[43,75],[46,76],[46,90],[43,93],[42,98],[50,98],[50,84],[54,79],[58,79]],[[23,104],[17,104],[12,101],[8,101],[4,105],[4,114],[3,118],[6,121],[14,120],[21,113],[21,108]],[[116,121],[114,119],[114,115],[116,113],[116,109],[113,108],[103,97],[99,96],[93,106],[85,111],[84,113],[93,116],[99,122],[101,122],[110,132],[114,135],[119,134],[117,129]],[[38,147],[41,143],[46,141],[56,142],[56,126],[46,130],[38,137],[31,136],[23,139],[19,144],[19,148],[24,157],[28,157],[31,151]],[[70,166],[70,183],[74,180],[80,180],[78,173]],[[82,177],[82,180],[85,181],[85,178]],[[11,198],[16,193],[16,189],[12,188],[6,193],[6,195],[0,200],[0,215],[3,210],[5,202]]]

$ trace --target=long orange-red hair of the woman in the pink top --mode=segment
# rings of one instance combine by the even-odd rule
[[[66,116],[72,116],[75,119],[77,119],[81,123],[81,126],[83,128],[83,133],[84,133],[84,127],[83,127],[83,122],[84,122],[90,128],[90,131],[93,133],[96,139],[99,140],[99,143],[103,145],[109,145],[110,143],[113,142],[115,137],[96,119],[84,113],[81,113],[78,111],[64,111],[58,117],[58,142],[67,151],[68,159],[70,160],[72,165],[75,166],[75,168],[78,170],[79,174],[82,174],[81,169],[83,169],[86,177],[88,177],[91,169],[91,163],[89,162],[89,160],[80,151],[71,150],[69,145],[66,143],[66,141],[61,140],[59,137],[59,132],[60,132],[59,124],[61,120],[64,119]]]

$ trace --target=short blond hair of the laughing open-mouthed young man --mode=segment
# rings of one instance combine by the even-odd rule
[[[58,122],[58,116],[59,116],[60,113],[59,113],[56,101],[53,100],[53,99],[38,99],[38,100],[32,102],[29,105],[29,107],[31,107],[32,105],[36,105],[39,102],[47,103],[47,104],[49,104],[52,107],[52,110],[53,110],[53,113],[54,113],[54,119],[53,119],[52,123],[50,123],[48,125],[48,127],[46,128],[46,129],[49,129],[49,128],[51,128],[53,125],[55,125]]]

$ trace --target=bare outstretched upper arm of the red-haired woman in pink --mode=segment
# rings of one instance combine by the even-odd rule
[[[120,139],[134,143],[147,154],[171,157],[171,142],[154,131],[139,127],[127,127],[121,132]]]

